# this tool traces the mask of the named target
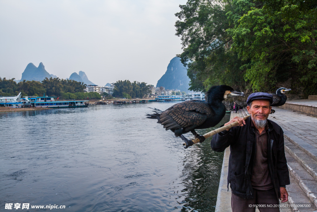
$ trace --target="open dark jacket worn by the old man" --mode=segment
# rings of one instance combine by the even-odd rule
[[[228,185],[232,193],[243,198],[253,198],[251,177],[256,153],[255,128],[251,127],[251,118],[243,127],[232,127],[213,136],[211,148],[223,152],[230,146]],[[277,198],[280,197],[280,187],[289,185],[288,167],[284,152],[284,137],[282,128],[268,120],[268,169],[275,188]],[[277,199],[278,201],[278,199]]]

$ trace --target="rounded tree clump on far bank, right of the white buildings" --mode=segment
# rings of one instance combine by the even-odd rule
[[[134,81],[131,83],[129,80],[119,80],[114,83],[113,96],[123,96],[123,94],[125,94],[126,96],[129,95],[131,98],[144,98],[151,93],[149,88],[150,85],[146,84],[147,83],[145,82],[140,83]]]

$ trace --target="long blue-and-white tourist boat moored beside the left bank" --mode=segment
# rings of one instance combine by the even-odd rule
[[[50,107],[50,108],[64,108],[64,107],[87,107],[88,100],[71,100],[71,101],[55,101],[55,97],[36,97],[31,101],[31,107]]]

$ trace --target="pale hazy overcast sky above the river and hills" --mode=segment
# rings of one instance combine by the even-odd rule
[[[83,71],[97,85],[156,85],[182,52],[175,13],[186,0],[0,0],[0,76],[42,62],[59,78]]]

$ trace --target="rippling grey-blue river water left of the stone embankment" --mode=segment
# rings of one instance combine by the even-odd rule
[[[0,113],[0,210],[30,203],[28,211],[214,211],[223,153],[210,139],[184,149],[145,116],[173,104]]]

